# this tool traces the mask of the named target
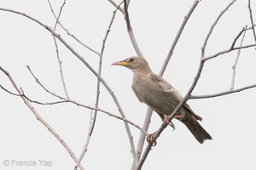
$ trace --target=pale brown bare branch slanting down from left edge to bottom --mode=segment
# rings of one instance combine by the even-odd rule
[[[66,142],[61,139],[61,136],[55,132],[55,130],[49,126],[49,124],[47,122],[44,121],[43,117],[41,117],[38,114],[38,111],[36,111],[36,109],[30,104],[30,102],[23,96],[22,92],[20,91],[20,88],[18,88],[18,86],[16,85],[14,79],[10,76],[9,72],[4,70],[3,67],[0,66],[0,70],[3,71],[3,73],[9,77],[9,81],[13,84],[14,88],[16,89],[16,91],[18,92],[18,94],[20,94],[20,98],[23,99],[25,105],[32,111],[32,113],[37,117],[39,122],[42,122],[42,124],[44,124],[45,127],[48,128],[49,132],[52,133],[56,139],[58,139],[61,144],[65,147],[65,149],[67,150],[67,152],[69,153],[69,155],[73,158],[74,161],[78,161],[78,158],[74,155],[73,151],[69,148],[69,146],[66,144]],[[84,170],[84,167],[82,165],[79,166],[79,168],[81,170]]]

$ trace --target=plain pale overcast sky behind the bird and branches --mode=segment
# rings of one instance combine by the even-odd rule
[[[155,73],[160,72],[183,17],[193,2],[131,1],[131,26],[145,59]],[[202,0],[189,19],[164,74],[164,78],[182,95],[187,93],[194,80],[201,59],[201,46],[207,32],[218,14],[229,3],[230,0]],[[56,13],[61,4],[61,0],[52,2]],[[256,3],[252,1],[251,5],[256,20]],[[55,24],[47,0],[2,1],[0,8],[26,13],[47,26],[53,27]],[[84,44],[100,52],[113,10],[115,8],[107,0],[67,1],[61,14],[61,23]],[[26,68],[26,65],[29,65],[49,91],[65,97],[55,44],[49,31],[18,14],[0,11],[0,21],[0,65],[9,71],[18,87],[33,100],[59,100],[39,87]],[[212,32],[207,43],[206,56],[230,48],[244,26],[251,26],[247,1],[238,0],[219,20]],[[57,27],[57,32],[97,70],[96,54],[67,36],[60,26]],[[240,41],[241,39],[236,46]],[[252,31],[248,31],[244,44],[253,43],[255,42]],[[61,42],[58,42],[58,47],[70,98],[84,105],[94,106],[96,77]],[[137,54],[127,34],[124,16],[118,12],[106,42],[102,77],[119,99],[125,116],[143,127],[147,106],[140,104],[132,93],[132,72],[124,67],[111,65],[115,61],[134,55]],[[255,56],[255,48],[241,50],[235,88],[256,83]],[[207,61],[192,94],[216,94],[229,90],[235,59],[236,51]],[[0,84],[16,94],[15,88],[2,71]],[[101,89],[99,107],[119,115],[108,91],[103,86]],[[190,107],[203,118],[201,125],[211,134],[212,140],[199,144],[181,122],[173,121],[176,130],[172,131],[171,127],[167,127],[161,133],[157,139],[158,144],[150,151],[143,169],[255,169],[255,94],[256,88],[253,88],[218,98],[190,99]],[[0,169],[73,169],[75,163],[67,150],[41,122],[38,122],[20,97],[0,89],[0,101]],[[79,157],[88,132],[90,110],[73,104],[32,105]],[[148,133],[153,133],[160,125],[160,118],[154,113]],[[131,127],[131,133],[137,146],[140,131]],[[130,150],[124,123],[99,112],[82,164],[87,170],[130,169]],[[5,160],[9,161],[8,166],[4,166]],[[17,161],[35,161],[37,165],[19,166],[15,164]],[[41,165],[40,161],[46,164]],[[47,162],[52,162],[52,165],[45,167],[49,165]]]

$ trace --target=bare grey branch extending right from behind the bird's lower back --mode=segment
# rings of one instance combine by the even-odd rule
[[[224,96],[226,94],[234,94],[234,93],[237,93],[237,92],[241,92],[243,90],[247,90],[249,88],[256,88],[256,84],[253,84],[253,85],[250,85],[250,86],[247,86],[247,87],[244,87],[244,88],[237,88],[237,89],[230,89],[228,91],[225,91],[225,92],[221,92],[221,93],[218,93],[218,94],[207,94],[207,95],[191,95],[189,97],[189,99],[207,99],[207,98],[215,98],[215,97],[220,97],[220,96]]]

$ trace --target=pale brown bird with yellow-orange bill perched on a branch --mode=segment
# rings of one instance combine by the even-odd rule
[[[163,122],[168,122],[167,116],[172,114],[172,111],[183,99],[181,94],[163,77],[154,74],[148,65],[148,61],[143,57],[129,57],[114,62],[112,65],[122,65],[133,71],[131,88],[137,99],[155,111]],[[199,143],[202,144],[205,140],[212,139],[211,135],[198,122],[202,121],[201,116],[196,115],[187,103],[183,105],[174,118],[183,122]],[[172,122],[170,123],[174,127]],[[150,139],[152,139],[152,136],[147,138],[148,143]]]

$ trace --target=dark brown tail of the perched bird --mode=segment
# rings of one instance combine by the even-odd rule
[[[212,139],[211,135],[207,133],[207,131],[203,127],[201,127],[199,122],[197,122],[192,115],[186,114],[182,119],[180,119],[180,121],[189,128],[189,131],[201,144],[207,139]]]

